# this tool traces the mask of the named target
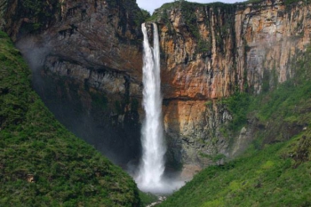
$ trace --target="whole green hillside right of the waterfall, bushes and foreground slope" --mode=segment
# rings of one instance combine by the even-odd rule
[[[310,60],[308,49],[292,64],[296,76],[272,92],[221,100],[234,116],[227,130],[255,119],[256,139],[244,155],[208,167],[159,206],[311,206]]]

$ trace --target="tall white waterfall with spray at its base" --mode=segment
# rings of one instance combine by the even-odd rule
[[[169,194],[183,186],[183,181],[164,178],[162,94],[160,78],[160,46],[156,23],[153,23],[153,47],[148,41],[145,24],[141,26],[143,41],[143,107],[146,117],[141,129],[142,158],[135,180],[140,190],[154,194]]]

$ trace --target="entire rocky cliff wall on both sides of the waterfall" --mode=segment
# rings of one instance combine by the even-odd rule
[[[219,100],[234,92],[267,92],[295,76],[291,61],[310,42],[311,4],[253,2],[180,1],[164,4],[149,19],[161,33],[163,114],[171,161],[202,167],[211,163],[203,155],[237,155],[251,141],[256,124],[227,136],[223,129],[233,117]],[[142,12],[135,1],[58,3],[46,2],[38,19],[31,8],[13,12],[21,3],[12,1],[4,13],[15,18],[7,18],[3,27],[33,68],[44,68],[41,75],[50,84],[39,82],[38,88],[45,88],[41,93],[46,102],[51,96],[61,100],[54,111],[65,124],[83,137],[96,137],[91,142],[106,147],[106,153],[127,151],[125,162],[137,158],[140,148],[134,146],[139,145],[143,117]],[[48,17],[46,11],[54,15]],[[69,107],[60,110],[64,103]],[[69,118],[73,114],[78,118]]]

